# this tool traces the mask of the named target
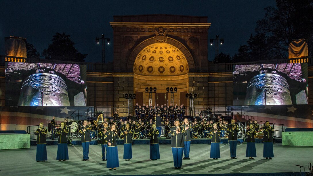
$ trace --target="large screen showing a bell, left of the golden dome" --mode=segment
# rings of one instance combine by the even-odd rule
[[[86,65],[7,62],[6,106],[86,106]]]

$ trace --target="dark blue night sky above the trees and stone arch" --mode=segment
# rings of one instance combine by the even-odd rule
[[[86,62],[101,62],[101,44],[95,38],[103,33],[111,39],[105,48],[105,60],[111,62],[113,29],[109,22],[114,15],[173,14],[207,16],[212,23],[208,39],[218,34],[224,39],[219,51],[233,56],[254,33],[267,6],[275,6],[275,1],[1,1],[0,54],[4,55],[4,37],[27,38],[41,54],[56,32],[65,32],[80,53],[88,54]],[[214,45],[209,45],[208,52],[208,60],[213,60]]]

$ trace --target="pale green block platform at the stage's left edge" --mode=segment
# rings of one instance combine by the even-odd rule
[[[0,150],[30,148],[29,140],[29,134],[0,133]]]

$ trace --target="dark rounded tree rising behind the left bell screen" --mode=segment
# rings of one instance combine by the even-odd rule
[[[75,49],[75,43],[71,41],[70,35],[55,33],[51,41],[52,44],[49,44],[48,48],[42,52],[42,56],[46,59],[74,62],[85,61],[87,54],[81,54]]]

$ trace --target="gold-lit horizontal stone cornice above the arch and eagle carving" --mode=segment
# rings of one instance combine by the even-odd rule
[[[142,27],[142,28],[209,28],[211,23],[131,23],[131,22],[110,22],[114,27]]]

